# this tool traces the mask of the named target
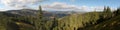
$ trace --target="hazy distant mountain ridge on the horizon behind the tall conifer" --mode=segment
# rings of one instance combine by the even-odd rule
[[[38,10],[33,10],[33,9],[20,9],[20,10],[9,10],[9,11],[4,11],[6,13],[11,13],[11,14],[17,14],[21,16],[36,16],[38,13]],[[75,12],[75,11],[43,11],[44,16],[52,16],[56,15],[59,17],[67,16],[73,13],[84,13],[84,12]]]

